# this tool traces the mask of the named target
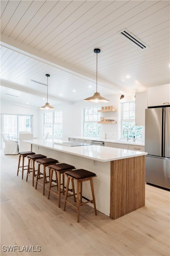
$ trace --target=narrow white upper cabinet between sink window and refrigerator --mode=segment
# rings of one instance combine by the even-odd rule
[[[145,109],[147,108],[147,91],[135,93],[135,125],[145,125]]]

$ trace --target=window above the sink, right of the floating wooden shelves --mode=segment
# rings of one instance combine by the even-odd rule
[[[122,103],[122,139],[132,139],[134,136],[136,140],[142,139],[142,126],[135,126],[135,102]],[[123,132],[124,131],[124,132]]]

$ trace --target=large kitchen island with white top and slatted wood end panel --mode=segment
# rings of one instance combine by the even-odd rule
[[[64,141],[56,139],[25,142],[35,153],[96,173],[96,207],[110,218],[117,219],[145,205],[146,152],[97,145],[65,146]],[[83,196],[91,198],[88,182],[83,184]]]

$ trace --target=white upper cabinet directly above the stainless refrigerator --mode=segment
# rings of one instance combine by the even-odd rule
[[[147,88],[147,106],[170,105],[170,84]]]

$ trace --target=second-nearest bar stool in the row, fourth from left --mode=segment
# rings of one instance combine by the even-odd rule
[[[64,195],[64,172],[72,171],[73,169],[75,169],[75,167],[70,164],[61,163],[61,164],[49,165],[48,168],[50,171],[48,199],[49,199],[50,192],[52,192],[54,195],[58,196],[58,207],[60,207],[61,185],[62,185],[62,192]],[[56,180],[52,179],[53,171],[55,171]],[[62,174],[62,183],[61,183],[61,174]],[[69,195],[69,196],[74,196],[74,202],[76,202],[74,182],[73,182],[73,180],[71,180],[71,181],[72,181],[72,189],[68,189],[68,190],[72,191],[73,195]],[[51,186],[52,182],[56,182],[57,185]],[[52,187],[57,187],[58,194],[51,190]]]

